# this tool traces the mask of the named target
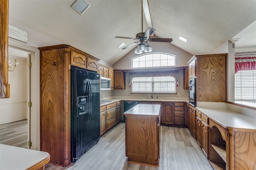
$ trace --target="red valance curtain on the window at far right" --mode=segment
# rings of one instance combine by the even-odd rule
[[[235,73],[240,70],[256,70],[256,51],[235,53]]]

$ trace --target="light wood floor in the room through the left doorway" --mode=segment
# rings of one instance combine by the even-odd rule
[[[28,119],[1,124],[0,143],[28,148]]]

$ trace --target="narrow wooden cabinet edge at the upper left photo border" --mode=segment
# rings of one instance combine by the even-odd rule
[[[10,98],[8,84],[8,13],[9,0],[0,0],[0,98]]]

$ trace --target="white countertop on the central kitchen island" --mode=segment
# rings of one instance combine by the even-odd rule
[[[160,104],[137,104],[131,109],[124,112],[124,115],[159,115]]]

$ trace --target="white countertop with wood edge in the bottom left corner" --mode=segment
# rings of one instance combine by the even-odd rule
[[[47,159],[47,152],[0,144],[0,170],[26,170]]]

